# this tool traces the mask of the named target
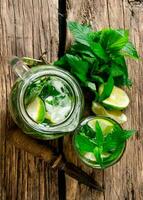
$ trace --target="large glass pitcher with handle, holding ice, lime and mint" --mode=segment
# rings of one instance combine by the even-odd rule
[[[12,59],[11,65],[18,79],[10,93],[9,109],[19,128],[26,134],[44,140],[73,132],[79,124],[84,106],[83,94],[76,79],[67,71],[50,65],[29,68],[17,57]],[[47,84],[44,100],[43,96],[34,97],[40,87],[38,84],[43,82]],[[27,91],[31,92],[30,97],[35,98],[31,99],[28,106],[25,103],[25,99],[29,98]],[[43,122],[40,121],[42,119]]]

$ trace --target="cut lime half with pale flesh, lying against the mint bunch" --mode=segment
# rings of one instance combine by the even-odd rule
[[[99,87],[99,94],[103,91],[103,85]],[[124,90],[114,86],[110,97],[103,100],[102,103],[109,109],[122,110],[129,105],[129,97]]]

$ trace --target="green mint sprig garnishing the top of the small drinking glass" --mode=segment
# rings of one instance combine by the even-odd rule
[[[88,124],[83,125],[78,134],[75,135],[75,142],[81,155],[86,152],[93,153],[100,167],[105,168],[116,159],[126,140],[133,136],[135,132],[135,130],[123,130],[120,126],[114,125],[112,132],[104,136],[97,121],[95,131]],[[104,154],[111,155],[104,159]]]

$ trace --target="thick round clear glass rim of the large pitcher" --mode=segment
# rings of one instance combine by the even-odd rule
[[[61,123],[56,124],[55,126],[48,126],[48,127],[34,122],[26,112],[24,105],[24,95],[27,87],[29,86],[29,83],[33,82],[34,80],[36,80],[41,76],[47,76],[47,75],[55,77],[57,76],[58,78],[63,79],[70,87],[72,95],[74,96],[72,110],[65,118],[65,120],[63,120]],[[83,104],[81,102],[81,99],[83,99],[83,94],[76,79],[73,76],[71,76],[71,74],[69,74],[67,71],[57,68],[55,66],[44,65],[31,68],[30,72],[29,71],[26,72],[21,84],[22,85],[21,85],[21,90],[19,91],[19,102],[18,102],[21,117],[24,120],[24,122],[27,123],[32,129],[36,131],[42,131],[45,134],[50,134],[51,131],[52,134],[62,132],[62,127],[65,127],[70,123],[70,118],[74,114],[74,111],[76,111],[80,106],[82,106],[81,104]]]

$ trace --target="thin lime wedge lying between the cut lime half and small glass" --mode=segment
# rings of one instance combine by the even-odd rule
[[[101,104],[92,102],[92,111],[97,115],[102,115],[114,119],[119,124],[127,121],[127,117],[120,110],[106,110]]]

